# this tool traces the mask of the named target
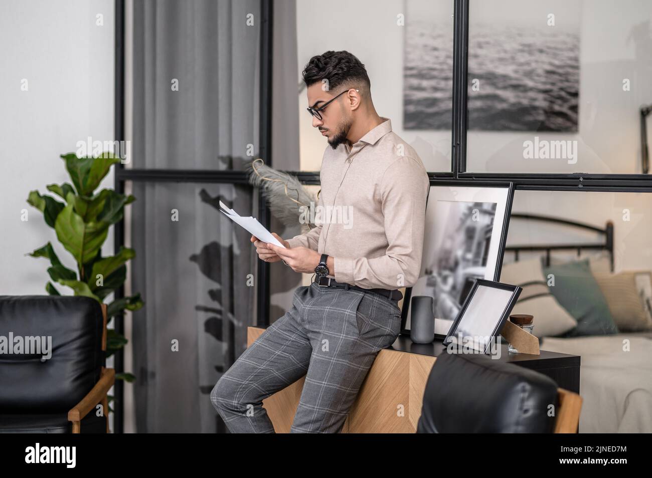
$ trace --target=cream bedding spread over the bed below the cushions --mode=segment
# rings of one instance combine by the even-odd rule
[[[652,432],[652,333],[545,337],[541,349],[581,356],[580,433]]]

